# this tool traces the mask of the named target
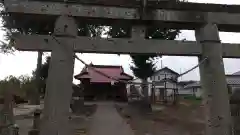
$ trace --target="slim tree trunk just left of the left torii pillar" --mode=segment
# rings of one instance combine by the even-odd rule
[[[37,72],[36,72],[36,89],[34,89],[32,97],[30,98],[30,104],[32,105],[39,105],[40,104],[40,91],[41,91],[41,79],[40,79],[40,71],[42,66],[42,55],[43,52],[38,51],[38,58],[37,58]]]

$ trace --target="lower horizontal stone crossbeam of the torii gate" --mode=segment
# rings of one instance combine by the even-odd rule
[[[122,38],[94,38],[81,37],[66,38],[55,37],[59,41],[71,41],[75,52],[81,53],[108,53],[108,54],[159,54],[169,56],[200,56],[202,48],[195,41],[176,40],[147,40]],[[49,35],[18,35],[16,48],[22,51],[52,51],[58,44],[56,39]],[[224,58],[239,58],[240,44],[222,44]]]

